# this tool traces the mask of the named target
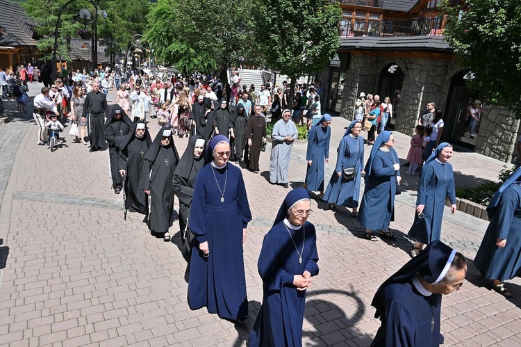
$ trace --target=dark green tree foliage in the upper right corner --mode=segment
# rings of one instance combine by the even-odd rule
[[[489,104],[505,106],[521,118],[521,3],[518,0],[468,0],[468,10],[451,7],[445,39],[474,79],[468,87]]]

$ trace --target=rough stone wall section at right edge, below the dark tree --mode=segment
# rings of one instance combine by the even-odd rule
[[[520,131],[520,120],[506,108],[486,106],[479,126],[476,152],[510,163],[515,141]]]

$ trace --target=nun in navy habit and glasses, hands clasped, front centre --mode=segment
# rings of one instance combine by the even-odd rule
[[[264,236],[258,273],[263,305],[249,346],[302,346],[306,289],[318,274],[315,227],[307,221],[311,200],[304,188],[286,195],[272,229]]]

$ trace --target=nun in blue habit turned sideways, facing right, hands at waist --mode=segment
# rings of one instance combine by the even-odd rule
[[[382,131],[365,164],[365,191],[358,221],[365,227],[365,239],[370,241],[377,241],[372,230],[379,230],[383,239],[396,239],[395,234],[388,231],[395,217],[397,184],[402,180],[394,146],[395,136],[390,131]]]

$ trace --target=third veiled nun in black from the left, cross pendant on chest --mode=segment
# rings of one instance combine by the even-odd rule
[[[170,241],[169,227],[174,222],[174,187],[172,181],[179,154],[172,131],[162,127],[144,156],[139,188],[147,194],[147,223],[152,234],[163,234]]]

